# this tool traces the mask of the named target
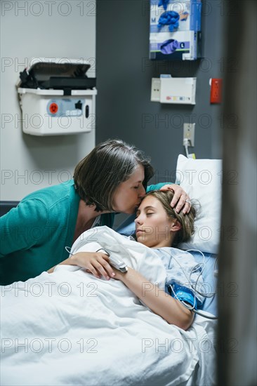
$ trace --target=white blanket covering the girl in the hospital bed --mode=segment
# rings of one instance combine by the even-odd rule
[[[166,271],[152,249],[98,227],[72,252],[92,243],[164,286]],[[197,316],[183,331],[121,281],[59,265],[1,287],[1,385],[213,385],[214,326]]]

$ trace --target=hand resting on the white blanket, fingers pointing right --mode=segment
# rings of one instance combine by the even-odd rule
[[[114,268],[109,263],[109,256],[102,252],[79,252],[70,257],[74,265],[86,268],[86,272],[91,272],[95,277],[103,275],[106,280],[115,276]]]

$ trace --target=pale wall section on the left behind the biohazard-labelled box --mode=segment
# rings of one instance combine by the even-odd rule
[[[74,166],[95,146],[94,128],[46,137],[22,132],[15,84],[32,58],[83,58],[92,65],[88,76],[95,76],[94,1],[50,3],[1,4],[1,201],[20,201],[72,178]]]

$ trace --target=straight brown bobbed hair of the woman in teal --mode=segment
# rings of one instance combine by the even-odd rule
[[[87,205],[95,205],[95,211],[112,211],[115,190],[138,165],[144,168],[146,188],[154,170],[144,152],[122,140],[100,143],[75,168],[74,183],[79,197]]]

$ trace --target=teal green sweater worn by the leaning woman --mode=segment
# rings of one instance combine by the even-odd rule
[[[79,200],[70,180],[29,194],[0,218],[1,285],[36,277],[69,257],[65,246],[72,246]],[[100,225],[113,222],[114,213],[101,215]]]

